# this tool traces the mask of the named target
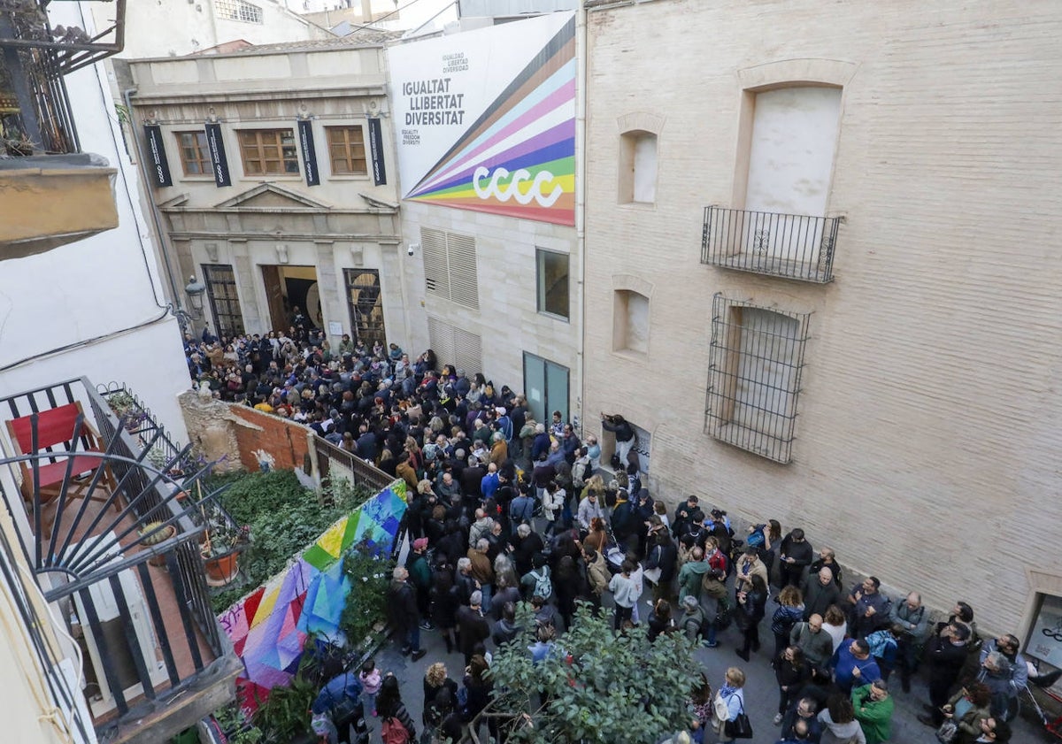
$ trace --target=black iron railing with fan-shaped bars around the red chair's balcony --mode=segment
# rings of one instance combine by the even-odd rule
[[[113,706],[118,719],[107,725],[121,725],[212,684],[233,663],[232,644],[210,609],[198,541],[203,526],[178,498],[207,467],[183,473],[179,481],[167,474],[175,463],[191,462],[189,448],[160,468],[152,466],[147,457],[164,435],[161,427],[154,428],[151,438],[134,436],[85,378],[0,397],[0,418],[29,417],[36,445],[42,442],[41,417],[73,402],[81,404],[102,444],[89,451],[73,437],[62,446],[0,460],[13,468],[12,474],[28,469],[32,485],[20,492],[10,487],[12,481],[0,479],[0,490],[13,514],[23,509],[24,501],[34,536],[23,553],[68,633],[85,639],[89,682],[99,697],[104,691],[109,695],[92,703],[92,690],[86,689],[86,696],[93,706]],[[80,419],[72,431],[81,431]],[[101,467],[79,475],[68,466],[57,490],[42,494],[41,470],[54,461],[79,462],[81,469],[93,461]],[[112,485],[104,488],[104,480]],[[102,504],[91,508],[90,501]],[[42,529],[46,509],[55,517]],[[152,533],[169,537],[156,540]]]

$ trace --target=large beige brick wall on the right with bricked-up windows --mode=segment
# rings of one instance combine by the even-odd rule
[[[803,526],[1020,629],[1027,567],[1062,571],[1062,6],[661,0],[587,23],[586,410],[653,433],[669,502]],[[702,265],[704,207],[740,206],[740,71],[802,58],[854,65],[836,281]],[[617,121],[637,111],[665,120],[655,208],[616,203]],[[653,286],[648,362],[611,351],[616,274]],[[704,433],[716,292],[812,313],[789,465]]]

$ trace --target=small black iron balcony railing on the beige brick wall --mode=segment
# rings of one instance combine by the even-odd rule
[[[843,218],[704,209],[701,263],[819,284],[834,280]]]

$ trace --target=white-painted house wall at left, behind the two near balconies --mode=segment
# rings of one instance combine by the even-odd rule
[[[51,17],[53,24],[82,24],[74,4],[52,5]],[[89,67],[69,75],[66,84],[82,150],[119,169],[119,226],[3,262],[0,391],[16,393],[82,375],[93,383],[129,382],[183,438],[174,399],[188,386],[181,332],[176,319],[165,316],[159,269],[135,195],[137,175],[121,143],[106,77],[99,66]],[[143,327],[130,330],[137,326]],[[92,341],[100,336],[113,338]],[[71,348],[35,359],[65,347]]]

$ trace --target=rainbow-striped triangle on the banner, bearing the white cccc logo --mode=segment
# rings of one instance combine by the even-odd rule
[[[572,17],[406,198],[576,224]]]

